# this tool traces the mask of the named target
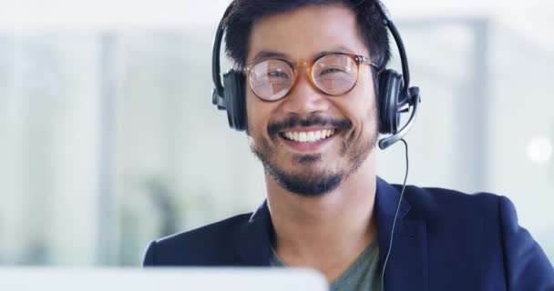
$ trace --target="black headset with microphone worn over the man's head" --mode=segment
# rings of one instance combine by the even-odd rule
[[[395,38],[396,46],[402,63],[402,74],[391,69],[385,69],[379,74],[379,92],[377,94],[377,108],[379,110],[379,133],[391,135],[379,140],[379,147],[385,149],[402,139],[411,129],[417,105],[421,102],[418,87],[410,87],[410,72],[404,43],[396,30],[395,24],[385,14],[385,7],[380,1],[375,1],[379,14],[383,17],[385,25]],[[246,129],[246,76],[234,69],[223,75],[221,84],[221,42],[225,25],[225,18],[231,13],[232,5],[227,7],[213,41],[211,55],[211,76],[215,88],[211,93],[211,102],[217,105],[218,109],[227,111],[227,118],[231,128],[243,131]],[[406,108],[407,105],[407,108]],[[400,115],[411,110],[411,115],[406,124],[398,129]]]

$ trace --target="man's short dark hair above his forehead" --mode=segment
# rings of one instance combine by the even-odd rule
[[[358,34],[374,64],[384,68],[390,59],[388,32],[376,5],[379,0],[233,0],[226,25],[225,51],[237,67],[246,65],[252,24],[264,16],[290,12],[307,5],[342,4],[356,16]]]

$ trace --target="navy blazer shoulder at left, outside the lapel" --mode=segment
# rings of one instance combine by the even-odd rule
[[[166,236],[147,246],[144,266],[231,265],[232,249],[251,214],[232,216],[190,231]]]

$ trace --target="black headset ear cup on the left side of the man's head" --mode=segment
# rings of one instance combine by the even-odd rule
[[[227,108],[229,126],[238,131],[246,129],[246,95],[244,94],[245,76],[235,70],[223,75],[223,97]]]

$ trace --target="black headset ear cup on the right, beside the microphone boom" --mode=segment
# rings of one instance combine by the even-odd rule
[[[402,75],[394,70],[385,70],[379,75],[379,133],[395,134],[400,122],[398,113],[398,96],[404,82]]]

